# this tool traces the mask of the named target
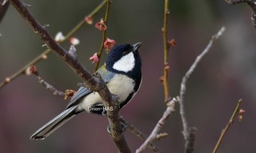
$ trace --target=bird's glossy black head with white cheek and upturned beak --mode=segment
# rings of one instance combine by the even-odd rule
[[[141,42],[136,44],[120,44],[113,47],[106,59],[106,68],[117,74],[125,74],[132,78],[141,75],[141,60],[138,48]]]

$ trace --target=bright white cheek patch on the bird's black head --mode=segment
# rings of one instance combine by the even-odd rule
[[[133,52],[129,52],[129,54],[122,57],[116,63],[114,63],[113,68],[117,71],[128,72],[131,71],[132,68],[135,67],[135,57]]]

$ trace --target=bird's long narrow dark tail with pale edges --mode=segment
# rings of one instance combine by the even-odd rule
[[[50,122],[39,128],[37,132],[35,132],[30,139],[32,140],[43,140],[46,137],[50,135],[50,133],[53,133],[54,130],[57,130],[61,125],[63,125],[65,122],[67,122],[69,119],[75,116],[75,109],[77,106],[72,106],[65,111],[63,111],[61,114],[59,114],[54,119],[51,119]]]

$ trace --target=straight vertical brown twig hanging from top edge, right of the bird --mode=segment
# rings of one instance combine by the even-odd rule
[[[168,24],[168,15],[170,11],[169,7],[169,0],[165,0],[165,13],[164,13],[164,26],[162,28],[162,36],[164,41],[164,77],[163,77],[163,85],[165,90],[165,103],[169,101],[169,86],[168,86],[168,74],[169,74],[169,65],[168,65],[168,39],[167,39],[167,24]]]

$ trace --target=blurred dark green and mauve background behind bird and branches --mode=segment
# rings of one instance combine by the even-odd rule
[[[67,34],[89,15],[96,1],[31,1],[29,10],[42,25],[49,24],[52,36]],[[117,44],[143,42],[143,84],[133,101],[120,114],[148,135],[165,111],[164,93],[159,77],[163,70],[162,24],[164,1],[113,1],[110,7],[108,37]],[[94,24],[105,16],[105,8],[94,17]],[[73,36],[80,39],[78,58],[89,71],[94,64],[89,57],[99,50],[102,32],[85,24]],[[211,36],[225,26],[223,36],[214,42],[187,83],[185,97],[189,126],[197,127],[195,152],[212,152],[222,128],[230,119],[237,101],[242,98],[246,110],[241,122],[227,131],[219,152],[255,152],[256,130],[256,31],[251,9],[218,1],[170,1],[170,95],[180,90],[182,76],[208,44]],[[0,81],[39,55],[45,47],[28,23],[10,6],[0,25]],[[69,49],[69,42],[61,44]],[[105,58],[105,53],[102,59]],[[100,63],[102,65],[102,62]],[[81,80],[54,53],[37,63],[43,79],[59,90],[78,89]],[[0,152],[117,152],[107,133],[108,120],[83,113],[71,119],[44,141],[29,137],[39,127],[64,110],[68,101],[46,90],[35,76],[22,75],[0,89]],[[184,152],[179,106],[161,132],[169,136],[155,141],[162,152]],[[143,143],[125,133],[127,143],[135,149]],[[147,149],[146,152],[152,152]]]

